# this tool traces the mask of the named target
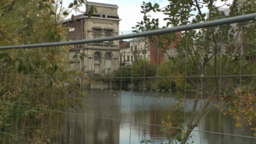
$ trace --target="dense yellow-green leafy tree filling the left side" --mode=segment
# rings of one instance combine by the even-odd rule
[[[65,41],[62,1],[13,1],[11,9],[0,17],[0,46]],[[83,74],[67,71],[67,54],[68,47],[0,51],[0,143],[55,143],[51,122],[83,106]]]

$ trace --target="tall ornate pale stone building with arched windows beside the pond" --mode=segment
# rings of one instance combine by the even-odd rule
[[[75,21],[66,19],[63,21],[69,27],[67,41],[81,39],[97,39],[119,35],[119,15],[117,5],[105,3],[86,2],[86,12],[75,16]],[[97,9],[97,13],[88,18],[91,6]],[[85,59],[79,57],[73,59],[76,53],[84,53]],[[69,69],[77,69],[84,73],[98,73],[105,75],[119,67],[119,41],[104,41],[102,43],[88,43],[84,45],[69,46]]]

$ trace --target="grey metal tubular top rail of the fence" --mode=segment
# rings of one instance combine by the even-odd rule
[[[0,50],[2,50],[2,49],[25,49],[25,48],[37,48],[37,47],[56,47],[56,46],[63,46],[63,45],[99,43],[99,42],[103,42],[103,41],[131,39],[131,38],[136,38],[136,37],[147,37],[147,36],[152,36],[152,35],[175,33],[175,32],[179,32],[179,31],[188,31],[191,29],[201,29],[201,28],[206,28],[206,27],[214,27],[214,26],[218,26],[218,25],[227,25],[227,24],[231,24],[231,23],[252,21],[252,20],[255,20],[255,18],[256,18],[256,13],[251,13],[248,15],[240,15],[240,16],[229,17],[229,18],[225,18],[225,19],[217,19],[217,20],[213,20],[213,21],[207,21],[204,23],[194,23],[194,24],[190,24],[190,25],[182,25],[179,27],[170,27],[170,28],[166,28],[166,29],[157,29],[154,31],[145,31],[142,33],[132,33],[132,34],[127,34],[127,35],[117,35],[117,36],[102,37],[102,38],[97,38],[97,39],[83,39],[83,40],[77,40],[77,41],[5,46],[5,47],[0,47]]]

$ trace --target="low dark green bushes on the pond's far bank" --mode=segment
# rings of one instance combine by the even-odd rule
[[[133,89],[179,89],[183,85],[183,79],[155,79],[158,75],[159,77],[169,77],[169,63],[168,60],[163,61],[161,65],[157,68],[157,65],[151,65],[147,59],[138,59],[133,63],[132,66],[120,67],[116,71],[113,71],[111,75],[107,75],[113,78],[114,83],[122,85],[122,89],[127,89],[131,83],[133,83]],[[158,73],[158,74],[157,74]],[[175,73],[177,76],[183,76],[182,73]],[[119,78],[120,77],[120,78]],[[125,77],[125,78],[122,78]],[[102,79],[103,82],[109,83],[109,80]],[[171,87],[170,87],[171,82]],[[182,89],[180,89],[182,90]]]

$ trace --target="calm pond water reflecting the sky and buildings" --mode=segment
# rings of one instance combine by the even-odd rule
[[[89,108],[75,111],[68,109],[69,113],[59,117],[59,121],[53,121],[53,129],[61,132],[59,137],[53,140],[59,143],[140,143],[143,139],[150,139],[151,143],[167,142],[165,135],[161,132],[162,119],[171,113],[171,105],[175,103],[175,97],[184,97],[183,93],[169,92],[131,92],[131,91],[109,91],[109,90],[89,90],[83,102],[90,105]],[[193,103],[189,100],[193,93],[187,93],[187,103],[185,121],[191,115]],[[163,97],[163,99],[159,99]],[[198,107],[197,109],[200,109]],[[84,115],[84,116],[81,116]],[[101,117],[101,119],[99,119]],[[221,116],[219,123],[219,111],[217,109],[208,111],[206,117],[201,119],[201,123],[191,133],[191,140],[194,143],[216,144],[216,143],[256,143],[256,139],[239,138],[229,135],[218,135],[215,133],[200,133],[202,131],[221,132],[239,135],[239,130],[233,131],[230,115]],[[132,121],[133,123],[130,123]],[[58,127],[56,125],[58,124]],[[220,128],[219,129],[219,124]],[[254,123],[253,123],[254,124]],[[255,125],[256,127],[256,125]],[[253,136],[251,126],[245,125],[241,129],[241,135]]]

